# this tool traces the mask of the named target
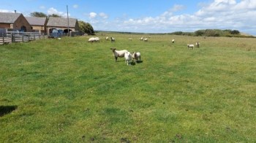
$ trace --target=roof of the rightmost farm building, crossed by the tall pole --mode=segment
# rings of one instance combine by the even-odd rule
[[[69,27],[74,28],[77,19],[69,18]],[[67,27],[67,18],[54,18],[50,17],[47,23],[47,26],[56,26],[56,27]]]

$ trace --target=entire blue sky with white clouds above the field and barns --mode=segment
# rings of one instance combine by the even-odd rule
[[[0,12],[57,14],[95,31],[143,33],[231,29],[256,36],[256,0],[1,0]]]

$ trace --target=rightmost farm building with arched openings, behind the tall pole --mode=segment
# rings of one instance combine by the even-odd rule
[[[53,29],[61,29],[64,33],[68,33],[69,31],[79,31],[78,20],[75,18],[69,18],[68,24],[67,18],[50,17],[46,28],[48,34],[52,33]]]

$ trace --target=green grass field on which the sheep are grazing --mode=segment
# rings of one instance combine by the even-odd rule
[[[0,142],[256,142],[256,39],[97,36],[0,46]]]

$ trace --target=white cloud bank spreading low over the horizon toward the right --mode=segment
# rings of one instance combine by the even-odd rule
[[[176,4],[156,17],[116,18],[111,21],[105,13],[91,12],[89,23],[94,29],[105,31],[165,33],[220,28],[237,29],[256,35],[255,0],[214,0],[210,4],[198,4],[198,6],[200,9],[192,14],[176,15],[176,12],[186,9],[186,6]]]

